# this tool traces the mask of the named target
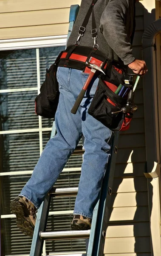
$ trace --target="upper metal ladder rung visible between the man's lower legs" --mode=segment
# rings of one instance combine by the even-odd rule
[[[52,197],[56,196],[74,196],[78,193],[78,187],[75,188],[64,188],[64,189],[55,189],[52,188],[48,195],[51,195]]]

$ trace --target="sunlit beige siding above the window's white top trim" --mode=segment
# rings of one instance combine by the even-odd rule
[[[68,1],[0,1],[0,39],[67,35],[70,6]]]

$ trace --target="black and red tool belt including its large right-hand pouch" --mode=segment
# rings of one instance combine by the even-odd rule
[[[76,45],[68,47],[60,54],[58,66],[74,68],[90,74],[91,68],[87,67],[86,63],[99,66],[101,62],[105,75],[96,73],[99,84],[88,113],[112,130],[127,130],[133,114],[122,112],[112,114],[120,111],[127,104],[127,99],[114,93],[120,84],[124,84],[127,67],[118,61],[105,58],[98,49]]]

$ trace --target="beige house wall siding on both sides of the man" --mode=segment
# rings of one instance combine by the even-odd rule
[[[133,54],[141,59],[141,38],[144,32],[144,17],[147,9],[143,0],[136,4],[136,34]],[[30,38],[68,33],[68,18],[71,4],[80,0],[1,0],[0,40]],[[143,3],[143,4],[142,4]],[[144,134],[144,99],[142,80],[136,90],[134,114],[129,131],[121,132],[119,152],[107,228],[106,256],[150,256],[150,227]],[[141,254],[140,254],[141,253]]]

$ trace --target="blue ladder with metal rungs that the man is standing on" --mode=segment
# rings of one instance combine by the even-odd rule
[[[72,5],[69,18],[68,37],[73,29],[74,22],[79,12],[79,5]],[[51,137],[56,134],[55,123]],[[87,239],[87,256],[102,256],[105,244],[105,235],[107,230],[107,215],[110,207],[110,198],[112,194],[113,177],[116,164],[117,144],[119,132],[113,137],[111,146],[111,158],[107,166],[107,171],[102,182],[100,199],[93,211],[91,230],[80,231],[60,231],[45,232],[51,197],[73,196],[78,192],[78,188],[51,189],[46,195],[37,212],[37,220],[34,229],[34,236],[31,244],[30,256],[41,256],[44,240],[63,240],[63,239]]]

